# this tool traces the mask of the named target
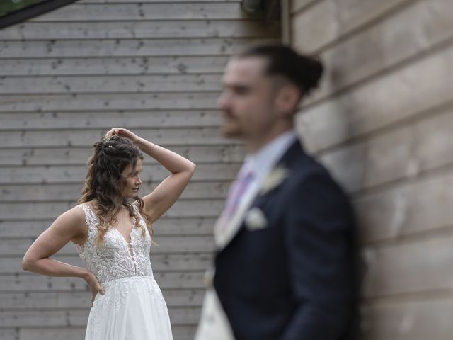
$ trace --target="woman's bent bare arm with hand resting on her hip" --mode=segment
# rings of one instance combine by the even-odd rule
[[[96,276],[88,269],[50,259],[50,256],[56,254],[69,241],[79,243],[78,240],[84,237],[86,237],[85,215],[81,208],[74,207],[60,215],[33,242],[23,256],[23,270],[46,276],[83,278],[90,286],[93,296],[97,291],[103,293]]]

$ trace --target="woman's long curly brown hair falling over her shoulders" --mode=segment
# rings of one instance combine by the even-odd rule
[[[139,221],[132,203],[122,195],[125,181],[121,174],[129,164],[135,168],[138,159],[143,159],[143,154],[129,139],[116,135],[110,138],[102,137],[93,147],[94,153],[86,164],[88,169],[79,204],[96,200],[94,208],[100,220],[97,225],[96,244],[101,244],[105,233],[116,222],[120,208],[125,207],[130,217],[135,217]],[[136,196],[132,200],[137,201],[139,214],[144,217],[152,239],[154,230],[151,226],[151,217],[143,210],[142,198]],[[142,237],[145,237],[144,227],[140,223],[136,225],[142,229]]]

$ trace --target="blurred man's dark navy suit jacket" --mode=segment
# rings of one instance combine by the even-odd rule
[[[299,141],[280,186],[257,196],[268,221],[244,223],[215,257],[214,288],[238,340],[350,339],[354,223],[348,199]]]

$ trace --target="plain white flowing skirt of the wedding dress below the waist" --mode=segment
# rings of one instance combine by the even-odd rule
[[[170,318],[152,276],[104,283],[91,307],[85,340],[172,340]]]

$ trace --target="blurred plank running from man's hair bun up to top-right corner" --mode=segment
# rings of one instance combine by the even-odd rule
[[[321,60],[328,65],[321,89],[305,104],[326,98],[451,40],[453,13],[449,8],[445,0],[415,1],[405,11],[326,50],[321,54]]]

